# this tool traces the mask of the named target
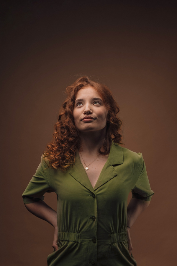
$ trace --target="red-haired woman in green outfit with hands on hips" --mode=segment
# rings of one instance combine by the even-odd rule
[[[137,265],[130,228],[153,195],[142,154],[119,145],[119,107],[106,86],[84,76],[67,93],[54,141],[23,193],[26,208],[54,227],[48,265]],[[57,212],[43,201],[52,191]]]

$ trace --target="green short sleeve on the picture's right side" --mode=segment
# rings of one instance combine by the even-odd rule
[[[154,191],[150,188],[146,166],[142,158],[142,154],[138,153],[138,156],[140,158],[139,163],[137,167],[134,166],[134,175],[137,175],[138,179],[135,183],[135,186],[132,188],[132,197],[150,201],[151,197],[154,194]]]

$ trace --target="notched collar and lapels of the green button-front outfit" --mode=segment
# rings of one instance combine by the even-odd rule
[[[105,163],[103,169],[101,170],[101,173],[94,188],[92,187],[90,180],[86,174],[86,170],[84,169],[81,163],[78,152],[76,152],[75,164],[69,170],[69,174],[79,183],[81,183],[84,187],[89,189],[92,193],[95,193],[95,190],[97,188],[99,188],[100,186],[102,186],[103,184],[105,184],[115,176],[117,176],[117,172],[114,169],[113,165],[119,165],[122,163],[123,163],[122,147],[112,142],[108,160]]]

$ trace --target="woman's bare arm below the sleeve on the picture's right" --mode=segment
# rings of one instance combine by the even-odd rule
[[[135,223],[137,217],[149,206],[150,201],[132,198],[127,207],[127,225],[130,227]],[[127,227],[128,236],[128,250],[131,255],[132,252],[132,241],[130,238],[130,228]]]

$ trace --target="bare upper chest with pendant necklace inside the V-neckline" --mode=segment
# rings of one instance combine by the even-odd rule
[[[89,163],[91,161],[93,161],[93,157],[84,157],[84,155],[82,154],[83,158],[84,158],[84,161],[86,163],[86,165],[89,165]],[[92,185],[92,187],[94,188],[98,178],[99,178],[99,175],[101,173],[101,170],[103,169],[107,159],[108,159],[108,156],[109,154],[106,154],[106,155],[99,155],[99,157],[91,163],[91,165],[88,166],[88,170],[86,171],[86,174],[90,180],[90,183]],[[84,167],[84,169],[86,168],[84,162],[83,162],[83,159],[81,157],[81,154],[79,153],[79,157],[80,157],[80,160],[81,160],[81,163]],[[85,159],[86,158],[86,159]]]

